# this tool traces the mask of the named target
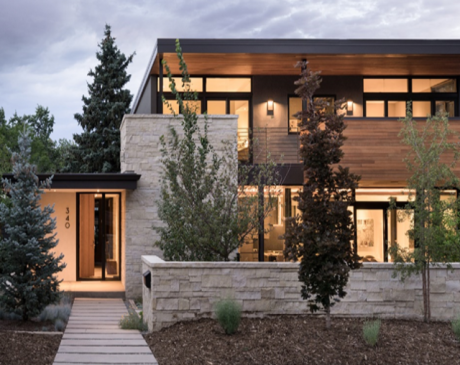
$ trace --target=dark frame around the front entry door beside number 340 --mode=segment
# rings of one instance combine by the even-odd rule
[[[105,277],[105,263],[106,263],[106,257],[105,257],[105,229],[103,234],[99,234],[99,243],[102,245],[102,252],[103,252],[103,260],[102,260],[102,275],[101,278],[81,278],[80,277],[80,195],[84,194],[101,194],[102,197],[102,211],[100,212],[101,217],[102,217],[102,226],[105,228],[105,195],[110,194],[110,195],[118,195],[118,219],[119,219],[119,225],[118,225],[118,237],[119,237],[119,250],[118,250],[118,276],[113,277],[113,278],[106,278]],[[122,216],[121,216],[121,193],[120,192],[78,192],[77,194],[77,281],[121,281],[121,244],[122,244],[122,239],[121,239],[121,222],[122,222]]]

